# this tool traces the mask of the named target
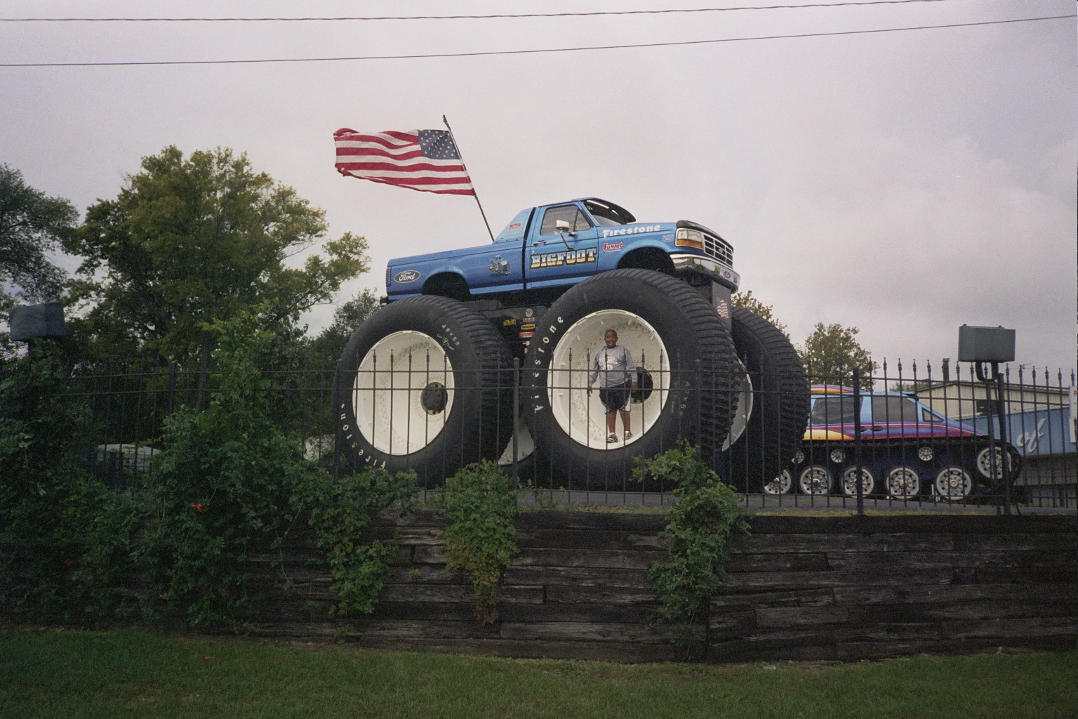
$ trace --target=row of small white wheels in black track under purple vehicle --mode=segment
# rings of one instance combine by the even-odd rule
[[[867,447],[869,456],[877,451],[879,447]],[[958,460],[964,454],[973,453],[972,462]],[[813,459],[806,464],[805,453],[796,453],[790,466],[765,485],[764,492],[779,495],[797,489],[811,496],[842,494],[856,497],[859,490],[863,497],[911,500],[930,496],[943,501],[962,501],[975,494],[997,489],[1004,478],[1018,473],[1021,461],[1012,446],[1005,450],[998,444],[945,447],[942,452],[940,447],[925,444],[898,462],[869,460],[860,467],[849,464],[852,451],[846,447],[813,447],[810,454]],[[879,454],[887,453],[879,451]]]

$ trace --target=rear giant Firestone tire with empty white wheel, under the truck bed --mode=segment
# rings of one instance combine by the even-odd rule
[[[497,459],[512,429],[509,349],[490,321],[436,295],[395,302],[351,335],[334,383],[337,441],[356,469],[425,486]]]

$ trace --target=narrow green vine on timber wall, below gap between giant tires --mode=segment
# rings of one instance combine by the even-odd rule
[[[492,461],[468,465],[445,481],[439,503],[450,520],[445,566],[471,575],[475,617],[489,624],[498,619],[501,578],[520,552],[512,481]]]

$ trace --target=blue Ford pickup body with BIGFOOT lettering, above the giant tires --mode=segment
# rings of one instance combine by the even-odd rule
[[[624,267],[682,275],[729,304],[740,277],[733,248],[694,222],[637,222],[624,208],[584,197],[521,210],[489,245],[390,260],[389,302],[417,294],[502,304],[549,304],[597,273]],[[718,304],[716,305],[718,306]]]

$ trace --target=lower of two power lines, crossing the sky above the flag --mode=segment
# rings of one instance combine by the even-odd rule
[[[530,55],[537,53],[570,53],[585,50],[627,50],[634,47],[671,47],[674,45],[704,45],[718,42],[747,42],[750,40],[787,40],[793,38],[828,38],[844,34],[868,34],[873,32],[901,32],[904,30],[936,30],[981,25],[1006,25],[1010,23],[1036,23],[1076,17],[1076,15],[1052,15],[1049,17],[1021,17],[1010,20],[985,20],[982,23],[953,23],[950,25],[921,25],[917,27],[880,28],[875,30],[842,30],[837,32],[803,32],[799,34],[770,34],[752,38],[720,38],[718,40],[681,40],[677,42],[648,42],[631,45],[593,45],[590,47],[547,47],[540,50],[492,50],[475,53],[431,53],[427,55],[367,55],[358,57],[276,57],[249,60],[151,60],[120,63],[0,63],[3,68],[70,68],[70,67],[130,67],[154,65],[254,65],[264,63],[342,63],[347,60],[411,60],[439,57],[483,57],[487,55]]]

